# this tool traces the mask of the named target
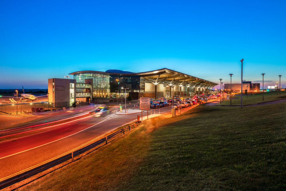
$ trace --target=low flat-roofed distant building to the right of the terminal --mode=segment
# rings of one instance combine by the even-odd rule
[[[225,92],[241,92],[241,84],[224,84]],[[242,91],[245,92],[260,92],[260,83],[251,83],[251,81],[242,81]]]

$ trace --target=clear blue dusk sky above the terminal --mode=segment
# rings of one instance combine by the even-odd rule
[[[0,88],[169,68],[286,86],[286,1],[0,1]],[[261,82],[262,86],[262,82]]]

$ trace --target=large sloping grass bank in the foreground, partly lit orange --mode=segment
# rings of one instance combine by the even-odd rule
[[[154,117],[20,190],[286,190],[286,103]]]

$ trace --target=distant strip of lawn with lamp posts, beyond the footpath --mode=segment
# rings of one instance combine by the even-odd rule
[[[281,91],[281,99],[285,99],[285,91]],[[231,99],[231,105],[240,105],[240,96],[232,96],[232,98],[238,98],[238,99]],[[243,95],[242,101],[243,105],[253,104],[253,103],[261,103],[266,101],[274,101],[279,100],[279,92],[277,96],[277,92],[270,92],[270,93],[264,93],[264,99],[262,101],[262,93],[255,94],[255,95]],[[217,105],[230,105],[230,100],[223,101],[222,103],[218,103]]]

